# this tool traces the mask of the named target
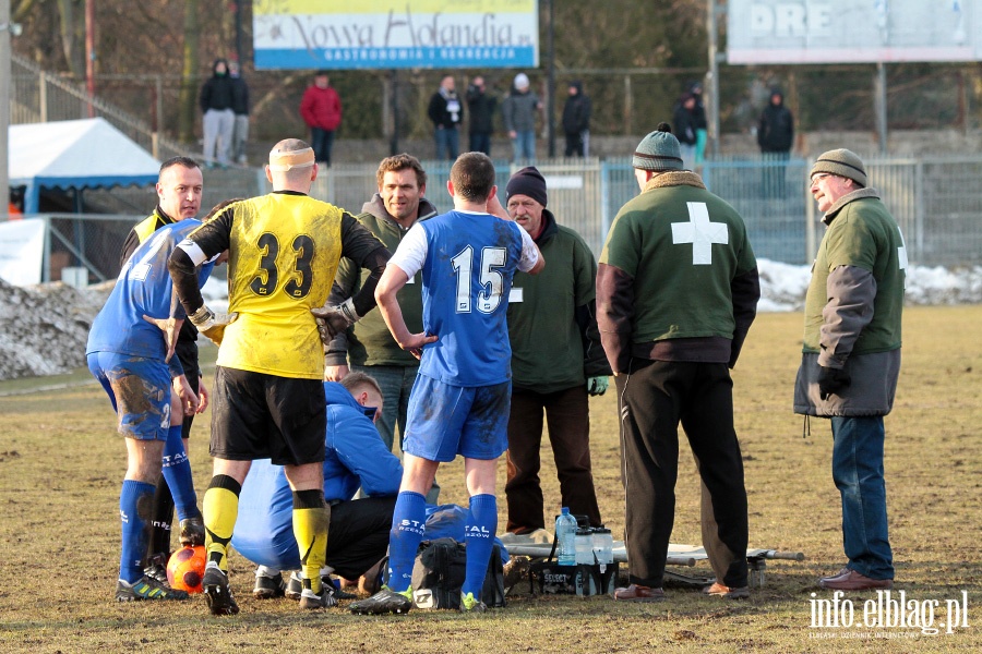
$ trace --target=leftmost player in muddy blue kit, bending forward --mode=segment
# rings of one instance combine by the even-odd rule
[[[93,322],[85,348],[88,370],[109,395],[127,444],[127,474],[119,497],[119,602],[188,597],[183,591],[145,574],[143,560],[149,508],[161,472],[173,493],[181,522],[201,517],[181,440],[181,421],[171,421],[172,412],[193,412],[197,398],[173,356],[184,313],[173,299],[167,270],[170,253],[201,225],[188,219],[163,227],[133,252]],[[218,258],[201,266],[201,286]]]

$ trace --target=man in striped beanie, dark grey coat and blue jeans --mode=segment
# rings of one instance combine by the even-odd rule
[[[836,591],[894,585],[883,480],[883,416],[900,372],[907,250],[896,220],[848,149],[818,157],[811,193],[827,226],[805,299],[794,412],[828,417],[848,562],[818,580]]]

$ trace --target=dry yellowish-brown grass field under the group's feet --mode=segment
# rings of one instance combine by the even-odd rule
[[[661,604],[609,597],[531,596],[523,585],[506,608],[486,616],[415,611],[368,618],[346,610],[300,614],[287,600],[251,596],[251,566],[231,556],[242,613],[216,619],[204,600],[120,605],[118,494],[124,448],[101,389],[76,385],[87,373],[0,383],[0,651],[2,652],[635,652],[640,650],[948,652],[982,650],[982,306],[914,307],[905,313],[903,368],[886,419],[886,480],[897,565],[894,596],[968,596],[968,628],[811,628],[817,577],[841,567],[838,493],[831,482],[827,421],[791,412],[800,314],[765,314],[734,371],[736,426],[746,467],[751,546],[803,552],[803,562],[768,565],[752,598],[730,603],[688,590]],[[41,390],[33,390],[41,387]],[[600,508],[615,537],[624,524],[618,473],[616,402],[591,405]],[[207,416],[191,439],[195,483],[209,477]],[[554,468],[543,452],[546,505],[559,509]],[[442,501],[465,504],[463,465],[441,469]],[[500,467],[501,489],[504,465]],[[504,500],[500,494],[504,524]],[[675,543],[698,544],[698,484],[683,447]],[[631,498],[627,498],[630,501]],[[551,510],[551,509],[550,509]],[[692,571],[692,570],[690,570]],[[697,573],[709,574],[700,565]],[[850,593],[855,617],[871,593]],[[865,637],[865,638],[863,638]]]

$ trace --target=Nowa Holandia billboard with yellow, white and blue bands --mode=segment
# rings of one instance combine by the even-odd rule
[[[255,68],[536,68],[538,0],[256,0]]]

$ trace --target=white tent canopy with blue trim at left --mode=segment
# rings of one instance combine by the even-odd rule
[[[101,118],[10,125],[11,186],[26,186],[24,213],[36,214],[41,187],[152,184],[160,162]]]

